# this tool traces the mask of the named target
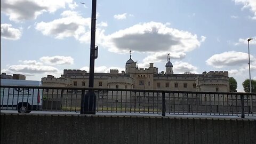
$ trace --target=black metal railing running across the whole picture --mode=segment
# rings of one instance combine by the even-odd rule
[[[81,111],[94,91],[97,113],[256,116],[256,93],[3,86],[1,110]]]

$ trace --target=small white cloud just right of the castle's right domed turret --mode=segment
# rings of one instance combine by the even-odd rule
[[[183,74],[185,72],[198,74],[196,70],[197,70],[197,67],[187,62],[176,61],[174,62],[174,65],[173,65],[173,73],[175,74]]]

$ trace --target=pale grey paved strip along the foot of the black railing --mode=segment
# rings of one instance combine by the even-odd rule
[[[1,110],[1,113],[18,113],[16,110]],[[70,111],[31,111],[30,114],[59,114],[59,115],[80,115],[77,112]],[[96,115],[108,115],[108,116],[159,116],[162,117],[162,114],[144,114],[144,113],[96,113]],[[183,118],[236,118],[242,119],[241,116],[230,116],[230,115],[182,115],[182,114],[166,114],[166,117],[183,117]],[[245,116],[245,119],[256,119],[256,114],[254,116]]]

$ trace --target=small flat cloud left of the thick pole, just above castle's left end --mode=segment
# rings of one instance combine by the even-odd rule
[[[47,65],[73,65],[74,59],[56,55],[54,57],[42,57],[40,60]]]

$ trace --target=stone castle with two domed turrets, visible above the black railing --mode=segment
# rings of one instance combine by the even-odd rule
[[[206,71],[203,74],[175,74],[168,60],[165,72],[158,73],[154,63],[149,68],[138,68],[131,58],[125,63],[125,71],[111,69],[109,73],[95,73],[95,88],[170,90],[170,91],[206,91],[229,92],[228,71]],[[43,86],[89,87],[89,73],[85,70],[64,69],[56,78],[52,75],[42,78]]]

